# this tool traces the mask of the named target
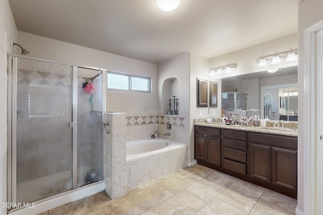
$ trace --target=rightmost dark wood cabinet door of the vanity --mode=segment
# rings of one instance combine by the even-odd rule
[[[273,183],[297,189],[297,151],[273,147]]]

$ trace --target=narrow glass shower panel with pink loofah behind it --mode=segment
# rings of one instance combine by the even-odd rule
[[[102,180],[102,74],[77,69],[77,186]]]

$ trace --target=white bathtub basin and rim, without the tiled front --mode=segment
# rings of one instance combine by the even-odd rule
[[[126,143],[126,160],[133,160],[184,147],[186,144],[165,138],[140,139]]]

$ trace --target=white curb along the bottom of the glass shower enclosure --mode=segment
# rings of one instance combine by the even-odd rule
[[[16,211],[9,212],[10,215],[34,215],[52,208],[70,203],[72,201],[79,200],[86,196],[93,195],[95,193],[104,190],[104,181],[93,183],[76,190],[67,191],[64,194],[60,194],[57,197],[50,198],[48,200],[36,203],[34,207],[22,208]]]

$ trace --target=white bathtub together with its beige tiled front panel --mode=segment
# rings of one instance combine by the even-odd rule
[[[187,166],[187,145],[165,138],[126,142],[127,190]]]

